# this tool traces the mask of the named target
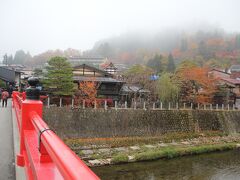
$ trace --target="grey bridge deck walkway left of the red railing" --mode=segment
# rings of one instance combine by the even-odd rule
[[[15,179],[11,102],[0,103],[0,179]]]

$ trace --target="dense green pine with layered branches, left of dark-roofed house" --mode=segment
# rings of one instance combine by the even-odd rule
[[[53,94],[59,96],[73,94],[73,73],[67,59],[64,57],[53,57],[48,61],[47,74],[44,85],[46,88],[54,89]]]

